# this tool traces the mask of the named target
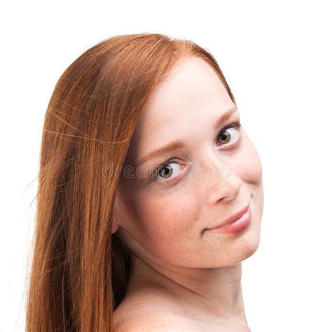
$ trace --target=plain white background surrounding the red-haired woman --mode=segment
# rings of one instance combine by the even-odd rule
[[[116,34],[191,39],[218,60],[263,164],[261,243],[243,262],[253,332],[332,331],[329,1],[4,1],[0,330],[24,331],[43,116],[57,79]]]

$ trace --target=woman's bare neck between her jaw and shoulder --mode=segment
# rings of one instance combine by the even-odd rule
[[[242,297],[242,263],[222,268],[183,268],[152,264],[132,256],[135,279],[157,283],[207,319],[234,319],[247,324]]]

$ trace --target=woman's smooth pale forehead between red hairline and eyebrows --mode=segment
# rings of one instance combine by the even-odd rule
[[[187,132],[200,132],[205,118],[211,123],[232,106],[214,69],[198,57],[188,58],[148,97],[128,153],[136,159],[155,146],[185,139]]]

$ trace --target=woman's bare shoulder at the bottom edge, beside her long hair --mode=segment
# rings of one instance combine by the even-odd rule
[[[115,312],[115,324],[116,332],[202,332],[194,321],[174,312],[156,310],[150,305],[129,306],[125,311]]]

